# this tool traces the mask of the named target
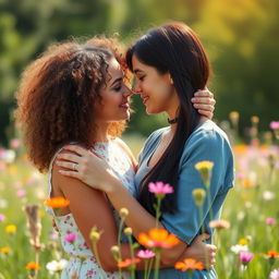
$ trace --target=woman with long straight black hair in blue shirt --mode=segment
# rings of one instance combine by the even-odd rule
[[[159,228],[175,234],[180,242],[162,252],[161,262],[168,264],[191,245],[203,227],[210,235],[210,243],[209,221],[219,218],[227,193],[233,185],[233,156],[225,132],[201,117],[191,105],[194,93],[206,87],[210,71],[204,48],[189,26],[170,23],[151,29],[128,50],[126,62],[136,76],[134,92],[141,95],[146,112],[166,112],[170,124],[155,131],[142,149],[135,177],[137,201],[101,158],[81,147],[68,146],[77,155],[62,155],[59,165],[68,169],[61,170],[62,174],[105,191],[116,209],[126,207],[130,214],[125,222],[135,238],[155,227],[155,197],[148,184],[158,181],[171,184],[174,193],[168,194],[162,202]],[[210,203],[204,203],[202,218],[192,196],[193,190],[205,189],[195,169],[201,161],[214,165]],[[77,163],[75,171],[72,162]],[[142,276],[138,272],[138,278]],[[216,277],[213,268],[193,274],[193,278]],[[187,278],[187,274],[166,268],[160,270],[160,278]]]

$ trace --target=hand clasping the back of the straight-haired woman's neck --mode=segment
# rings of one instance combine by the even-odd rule
[[[209,92],[208,88],[197,90],[191,100],[194,104],[194,108],[197,109],[202,116],[213,119],[216,100],[214,94]]]

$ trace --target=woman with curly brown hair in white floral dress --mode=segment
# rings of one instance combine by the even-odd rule
[[[70,201],[59,214],[49,208],[62,246],[70,255],[62,278],[72,278],[74,272],[77,278],[119,278],[110,253],[117,244],[116,210],[102,192],[62,175],[54,161],[63,154],[63,146],[78,143],[102,157],[131,195],[135,195],[136,162],[119,138],[130,118],[132,92],[124,84],[125,78],[119,47],[105,38],[94,38],[85,45],[52,46],[22,76],[16,118],[28,157],[39,171],[48,172],[48,197]],[[94,226],[102,231],[97,244],[101,266],[89,239]],[[69,234],[75,235],[74,243],[69,241]],[[183,256],[194,256],[196,251],[203,254],[201,245],[206,246],[197,239],[196,246]],[[122,243],[121,253],[123,258],[131,257],[128,243]],[[143,264],[137,268],[143,269]],[[128,272],[122,276],[129,278]]]

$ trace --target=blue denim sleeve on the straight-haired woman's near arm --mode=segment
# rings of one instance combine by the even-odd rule
[[[208,160],[214,162],[210,181],[210,204],[205,198],[202,220],[198,207],[192,196],[193,190],[206,187],[195,165]],[[202,131],[185,144],[180,161],[179,182],[175,195],[178,210],[174,214],[162,214],[165,228],[179,239],[190,244],[199,233],[202,223],[209,222],[209,209],[214,218],[219,217],[228,190],[233,185],[233,156],[226,137],[217,131]],[[206,226],[208,227],[208,226]]]

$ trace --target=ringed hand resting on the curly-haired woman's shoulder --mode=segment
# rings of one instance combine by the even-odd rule
[[[93,150],[78,145],[66,145],[57,156],[59,172],[65,177],[81,180],[85,184],[100,191],[107,190],[114,174],[109,165]]]

